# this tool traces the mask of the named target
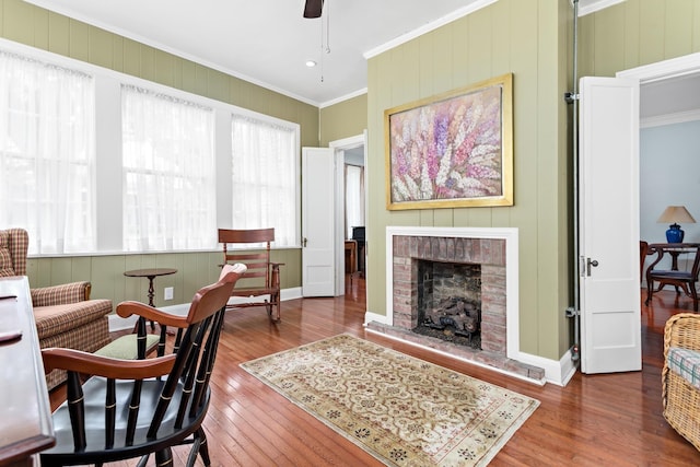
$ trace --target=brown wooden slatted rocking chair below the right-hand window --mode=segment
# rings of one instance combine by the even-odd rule
[[[232,296],[245,297],[230,304],[229,308],[265,306],[270,319],[280,320],[280,266],[270,261],[270,243],[275,229],[229,230],[219,229],[219,243],[223,245],[223,264],[241,262],[247,267],[244,283],[233,290]],[[261,245],[261,250],[230,250]]]

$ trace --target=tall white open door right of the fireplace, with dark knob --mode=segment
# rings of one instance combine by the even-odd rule
[[[639,82],[581,79],[581,370],[642,367]]]

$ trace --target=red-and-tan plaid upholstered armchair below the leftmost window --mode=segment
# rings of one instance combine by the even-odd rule
[[[26,276],[30,237],[24,229],[0,231],[0,277]],[[31,289],[34,319],[39,347],[60,347],[94,352],[109,343],[107,315],[110,300],[90,300],[91,283],[73,282]],[[66,372],[47,375],[51,389],[66,377]]]

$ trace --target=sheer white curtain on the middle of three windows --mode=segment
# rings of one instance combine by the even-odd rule
[[[124,249],[217,246],[211,108],[121,87]]]

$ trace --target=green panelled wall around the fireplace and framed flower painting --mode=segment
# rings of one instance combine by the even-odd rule
[[[369,310],[386,314],[385,227],[520,232],[521,350],[559,360],[570,345],[568,0],[499,0],[369,61]],[[387,211],[384,110],[513,73],[513,207]]]

